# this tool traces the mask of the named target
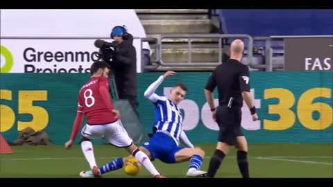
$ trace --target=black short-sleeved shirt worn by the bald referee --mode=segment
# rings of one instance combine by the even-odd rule
[[[214,69],[207,81],[205,89],[213,92],[217,86],[219,105],[228,105],[233,97],[233,107],[243,106],[242,91],[250,91],[248,66],[238,60],[228,59]]]

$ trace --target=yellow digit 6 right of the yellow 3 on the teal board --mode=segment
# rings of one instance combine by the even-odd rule
[[[331,98],[331,89],[313,88],[305,91],[298,100],[297,115],[300,123],[310,130],[325,130],[332,124],[333,111],[326,103],[313,103],[314,98]],[[318,120],[312,118],[314,111],[319,112]]]

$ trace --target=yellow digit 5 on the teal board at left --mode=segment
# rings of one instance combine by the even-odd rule
[[[43,130],[49,123],[49,114],[46,109],[40,106],[34,106],[34,100],[47,100],[47,91],[19,91],[19,114],[31,114],[32,121],[18,121],[17,130],[24,130],[31,127],[35,131]]]

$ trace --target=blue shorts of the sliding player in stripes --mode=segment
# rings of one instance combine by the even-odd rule
[[[179,147],[176,142],[163,132],[156,132],[142,147],[151,152],[151,161],[160,159],[164,163],[176,163],[175,154],[185,147]]]

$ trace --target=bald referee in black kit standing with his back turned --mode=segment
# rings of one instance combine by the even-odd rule
[[[237,148],[237,163],[241,176],[249,177],[248,143],[241,132],[243,99],[250,109],[253,121],[256,121],[258,116],[250,94],[248,66],[240,62],[243,53],[244,43],[240,39],[235,39],[230,47],[230,59],[214,69],[205,86],[207,103],[210,105],[213,120],[220,129],[219,141],[210,159],[207,177],[214,177],[225,155],[228,154],[230,145]],[[216,86],[219,93],[219,107],[214,106],[212,94]]]

